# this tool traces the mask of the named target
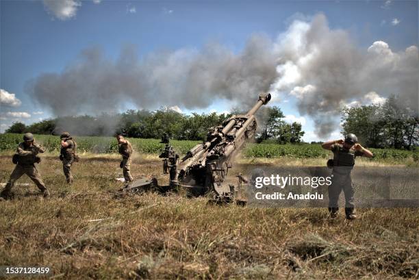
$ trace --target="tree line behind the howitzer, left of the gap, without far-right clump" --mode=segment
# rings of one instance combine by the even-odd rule
[[[301,142],[304,132],[301,124],[285,123],[279,107],[266,107],[257,117],[257,142],[274,140],[279,143]],[[6,133],[55,134],[70,131],[79,136],[112,136],[123,133],[131,138],[161,138],[166,133],[175,140],[205,140],[210,127],[221,125],[233,114],[243,114],[233,110],[231,114],[181,114],[162,108],[156,111],[127,110],[122,114],[101,114],[100,116],[64,116],[25,125],[13,123]]]

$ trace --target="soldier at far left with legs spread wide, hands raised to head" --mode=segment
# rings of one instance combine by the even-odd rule
[[[10,198],[10,190],[12,190],[14,182],[22,177],[23,174],[26,174],[32,181],[34,181],[44,197],[49,196],[49,192],[35,166],[35,163],[40,163],[38,153],[44,153],[45,149],[40,146],[40,144],[34,142],[34,136],[32,133],[25,133],[23,141],[24,142],[18,144],[18,148],[16,149],[16,153],[12,159],[13,163],[16,164],[16,167],[10,175],[8,183],[0,194],[0,196],[4,199]]]

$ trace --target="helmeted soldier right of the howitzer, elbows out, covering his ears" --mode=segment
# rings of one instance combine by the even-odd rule
[[[345,196],[345,214],[348,220],[357,218],[354,214],[355,190],[351,179],[351,171],[355,164],[355,157],[372,157],[371,151],[357,144],[357,136],[349,133],[344,140],[331,140],[322,144],[323,149],[333,151],[332,183],[329,186],[329,213],[331,218],[338,216],[338,200],[342,189]]]

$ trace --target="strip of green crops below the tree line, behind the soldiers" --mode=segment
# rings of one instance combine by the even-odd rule
[[[21,134],[5,133],[0,134],[0,151],[13,151],[16,144],[21,142]],[[112,137],[93,137],[77,136],[77,149],[79,153],[116,153],[118,150],[116,140]],[[36,135],[36,141],[42,143],[47,151],[58,151],[60,147],[60,138],[58,136]],[[138,153],[158,154],[164,149],[164,144],[157,139],[129,138],[134,149]],[[175,150],[184,154],[189,149],[199,144],[199,141],[190,140],[171,140]],[[419,160],[419,151],[403,151],[396,149],[371,149],[374,153],[372,160],[394,160],[403,162]],[[277,158],[277,157],[295,157],[295,158],[327,158],[330,152],[322,149],[320,144],[247,144],[243,153],[244,157],[257,158]]]

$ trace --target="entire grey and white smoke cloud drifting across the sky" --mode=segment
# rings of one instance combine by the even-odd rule
[[[250,107],[270,90],[295,97],[300,114],[326,137],[338,128],[342,106],[354,101],[400,94],[418,110],[418,61],[416,46],[395,53],[378,41],[361,49],[318,14],[294,21],[275,41],[253,35],[240,53],[211,43],[140,57],[131,46],[112,60],[99,48],[87,49],[62,73],[42,74],[27,89],[57,116],[118,112],[127,103],[193,110],[227,99]]]

